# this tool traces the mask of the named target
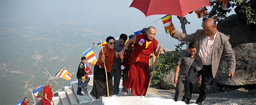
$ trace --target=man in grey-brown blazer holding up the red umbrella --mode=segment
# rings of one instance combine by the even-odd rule
[[[189,103],[193,92],[193,87],[199,75],[202,75],[202,84],[200,94],[196,103],[202,104],[202,101],[209,93],[210,87],[218,71],[221,54],[226,58],[229,70],[229,77],[235,75],[235,53],[229,43],[229,38],[218,32],[216,21],[208,18],[203,23],[203,30],[198,29],[195,33],[187,35],[176,31],[174,27],[169,28],[171,36],[182,41],[195,42],[196,54],[189,73],[185,80],[185,95],[182,101]]]

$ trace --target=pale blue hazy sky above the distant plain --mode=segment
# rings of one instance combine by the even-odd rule
[[[0,21],[62,23],[72,24],[78,28],[83,25],[83,28],[102,33],[102,36],[106,34],[118,38],[121,33],[129,36],[133,31],[141,30],[143,26],[165,16],[151,15],[145,18],[138,9],[129,8],[131,2],[132,0],[1,0]],[[229,15],[234,13],[231,12]],[[196,13],[193,12],[186,17],[191,22],[186,26],[187,34],[202,28],[202,18],[198,19]],[[176,29],[182,31],[176,16],[172,16],[172,21]],[[156,27],[155,38],[159,43],[164,41],[164,48],[173,49],[174,45],[179,43],[165,33],[161,20],[148,26]]]

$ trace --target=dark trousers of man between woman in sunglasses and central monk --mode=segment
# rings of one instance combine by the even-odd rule
[[[115,91],[115,94],[119,93],[119,84],[120,84],[120,79],[121,79],[121,73],[122,73],[121,67],[118,68],[118,66],[116,68],[112,68],[112,70],[110,72],[111,77],[113,77],[113,74],[114,74],[114,91]]]

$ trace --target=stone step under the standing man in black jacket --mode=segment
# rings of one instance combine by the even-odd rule
[[[77,96],[77,100],[79,103],[87,103],[89,101],[92,101],[92,99],[89,97],[89,93],[87,92],[87,90],[85,90],[84,88],[82,88],[82,91],[81,93],[83,94],[83,96],[79,96],[77,95],[77,86],[78,83],[72,83],[71,86],[72,86],[72,90],[73,92],[75,93],[75,95]]]

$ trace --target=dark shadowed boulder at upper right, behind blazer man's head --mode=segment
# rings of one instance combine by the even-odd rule
[[[230,15],[217,24],[217,30],[229,35],[232,47],[243,43],[256,43],[255,26],[247,25],[237,14]]]

